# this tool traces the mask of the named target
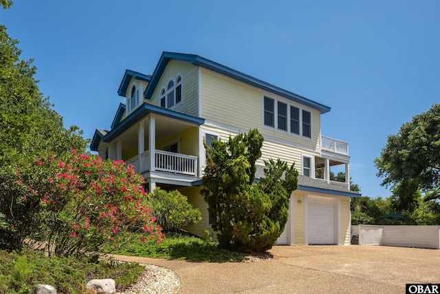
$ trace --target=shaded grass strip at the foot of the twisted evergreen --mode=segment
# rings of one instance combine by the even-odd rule
[[[112,253],[191,262],[241,262],[244,258],[243,253],[220,249],[218,242],[182,235],[166,235],[160,244],[135,238]]]

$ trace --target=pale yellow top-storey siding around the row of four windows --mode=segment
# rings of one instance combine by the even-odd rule
[[[201,70],[200,87],[201,117],[238,128],[241,132],[257,128],[265,137],[270,136],[275,140],[281,139],[313,149],[319,147],[320,112],[318,110],[305,107],[312,113],[312,138],[300,138],[287,132],[263,127],[263,92],[260,89],[205,69]],[[267,94],[267,96],[295,105],[293,101],[275,94]],[[303,107],[303,105],[297,106]]]

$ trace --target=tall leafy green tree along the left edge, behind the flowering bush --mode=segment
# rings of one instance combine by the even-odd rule
[[[12,4],[0,1],[5,9]],[[32,59],[20,59],[17,43],[0,25],[0,215],[7,224],[0,228],[0,248],[11,250],[21,245],[20,233],[10,229],[11,220],[22,217],[24,222],[28,217],[12,216],[21,193],[14,183],[16,165],[31,168],[42,153],[63,154],[72,148],[85,151],[87,145],[78,127],[66,129],[63,118],[43,98],[34,78],[36,67]]]

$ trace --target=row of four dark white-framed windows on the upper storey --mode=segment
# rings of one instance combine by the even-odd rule
[[[302,107],[263,96],[263,126],[297,136],[311,138],[311,111]]]

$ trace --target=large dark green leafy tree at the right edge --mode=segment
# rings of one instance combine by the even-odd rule
[[[440,104],[404,123],[375,158],[382,185],[392,187],[399,209],[413,211],[417,190],[424,200],[440,198]]]

